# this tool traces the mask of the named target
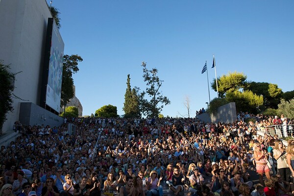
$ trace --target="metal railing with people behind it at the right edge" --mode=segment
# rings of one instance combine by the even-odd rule
[[[260,127],[261,131],[264,131],[271,136],[278,135],[278,138],[287,138],[294,136],[294,124],[277,124],[270,126]]]

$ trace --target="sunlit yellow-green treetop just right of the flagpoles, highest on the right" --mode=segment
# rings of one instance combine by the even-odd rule
[[[224,98],[226,93],[232,93],[241,88],[245,88],[247,85],[246,82],[247,76],[243,73],[228,73],[227,75],[222,75],[218,78],[219,86],[219,96]],[[214,79],[211,83],[213,90],[217,91],[216,80]]]

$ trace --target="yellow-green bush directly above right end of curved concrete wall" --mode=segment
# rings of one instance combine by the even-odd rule
[[[263,104],[263,97],[253,94],[252,91],[230,92],[226,94],[226,98],[236,103],[237,111],[248,111],[249,113],[257,113],[257,108]]]

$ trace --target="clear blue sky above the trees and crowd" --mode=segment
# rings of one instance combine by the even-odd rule
[[[49,2],[49,0],[48,0]],[[191,116],[206,107],[215,54],[217,74],[243,72],[247,80],[294,90],[294,0],[53,0],[60,11],[65,54],[84,60],[74,74],[83,115],[103,105],[123,115],[127,74],[146,88],[142,61],[164,80],[171,104],[164,116]],[[217,93],[210,89],[211,99]]]

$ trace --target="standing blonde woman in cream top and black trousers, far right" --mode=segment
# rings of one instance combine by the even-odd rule
[[[273,158],[277,160],[277,169],[284,181],[290,182],[291,171],[287,164],[286,150],[282,141],[275,141]]]

